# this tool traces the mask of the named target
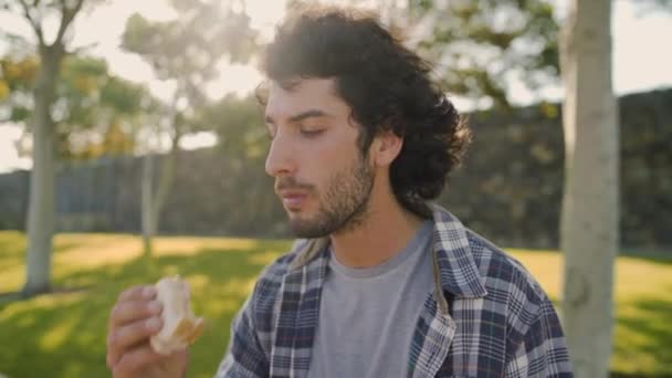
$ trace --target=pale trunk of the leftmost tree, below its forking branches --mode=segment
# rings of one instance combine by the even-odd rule
[[[33,168],[30,176],[28,212],[28,252],[23,295],[45,293],[51,284],[51,252],[54,231],[54,128],[51,106],[59,74],[62,49],[41,49],[40,73],[35,83],[33,129]]]

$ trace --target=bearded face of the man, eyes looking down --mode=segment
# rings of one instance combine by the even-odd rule
[[[275,192],[298,238],[350,230],[366,218],[374,170],[357,146],[350,113],[333,80],[270,87],[266,172],[275,177]]]

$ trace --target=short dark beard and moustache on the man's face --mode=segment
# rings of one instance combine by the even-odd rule
[[[368,203],[374,188],[374,172],[368,159],[358,157],[349,167],[329,178],[324,197],[319,198],[317,213],[309,219],[290,217],[290,228],[296,238],[323,238],[357,229],[367,218]],[[288,179],[292,180],[292,179]],[[281,187],[314,187],[281,183]]]

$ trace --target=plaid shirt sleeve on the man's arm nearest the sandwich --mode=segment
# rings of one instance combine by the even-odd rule
[[[253,294],[252,294],[253,295]],[[216,378],[258,378],[269,376],[269,363],[254,328],[252,295],[231,324],[229,350]]]

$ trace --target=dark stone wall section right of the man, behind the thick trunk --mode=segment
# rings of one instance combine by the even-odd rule
[[[621,241],[672,245],[672,90],[619,99]],[[441,202],[504,245],[557,246],[564,179],[557,105],[474,114],[474,143]]]

